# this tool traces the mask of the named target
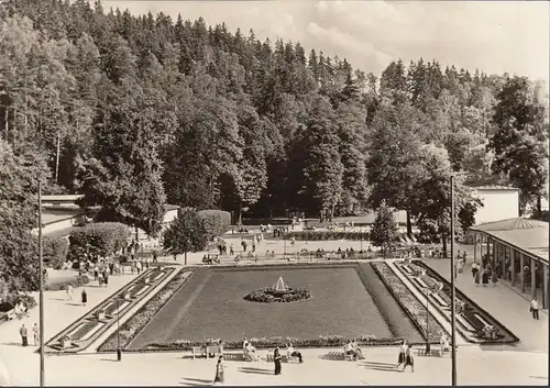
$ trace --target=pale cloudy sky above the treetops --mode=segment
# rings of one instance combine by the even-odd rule
[[[106,9],[202,16],[256,37],[300,42],[376,76],[398,58],[422,57],[486,74],[548,81],[548,1],[116,1]]]

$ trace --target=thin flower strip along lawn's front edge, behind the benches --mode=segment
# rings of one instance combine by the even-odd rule
[[[343,347],[348,342],[353,339],[346,339],[342,335],[319,335],[317,339],[292,339],[292,337],[262,337],[262,339],[249,339],[249,341],[256,348],[273,348],[276,346],[285,346],[292,343],[295,347]],[[361,346],[395,346],[402,343],[403,339],[376,339],[370,334],[363,334],[361,337],[355,339],[358,344]],[[223,348],[226,350],[242,350],[242,341],[231,341],[222,342]],[[204,346],[205,342],[196,341],[177,341],[174,343],[166,344],[150,344],[146,346],[145,351],[150,352],[166,352],[166,351],[185,351],[194,346]]]

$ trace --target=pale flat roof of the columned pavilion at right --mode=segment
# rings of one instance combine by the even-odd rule
[[[549,223],[524,218],[487,222],[470,228],[513,245],[519,251],[548,263]]]

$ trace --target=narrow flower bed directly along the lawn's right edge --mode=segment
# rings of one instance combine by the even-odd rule
[[[422,304],[407,288],[407,286],[397,277],[397,275],[389,268],[386,263],[372,264],[376,274],[378,274],[382,281],[386,285],[389,292],[399,302],[405,312],[410,317],[413,322],[417,325],[420,333],[426,339],[427,314],[426,306]],[[428,339],[430,343],[439,343],[441,334],[446,333],[440,323],[429,314],[428,324]]]

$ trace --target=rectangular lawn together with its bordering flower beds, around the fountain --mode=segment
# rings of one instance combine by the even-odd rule
[[[338,347],[351,339],[363,346],[396,345],[403,339],[422,344],[425,308],[385,265],[199,267],[187,281],[175,276],[99,352],[118,346],[124,352],[183,351],[220,340],[224,348],[240,350],[243,336],[257,348],[288,341],[299,347]],[[258,289],[275,291],[279,277],[286,289],[307,295],[294,302],[246,298]],[[431,319],[430,342],[438,343],[443,329]]]

